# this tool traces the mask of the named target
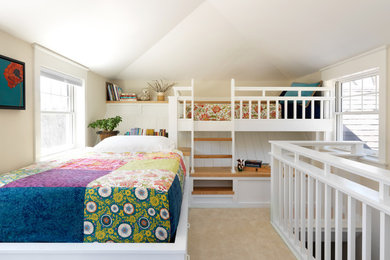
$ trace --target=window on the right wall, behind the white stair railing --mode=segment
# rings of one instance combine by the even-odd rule
[[[379,75],[361,73],[337,82],[337,139],[363,141],[371,156],[379,151]]]

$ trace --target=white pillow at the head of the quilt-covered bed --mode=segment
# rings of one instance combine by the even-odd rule
[[[163,136],[112,136],[104,139],[94,150],[98,152],[169,152],[175,149],[175,144]]]

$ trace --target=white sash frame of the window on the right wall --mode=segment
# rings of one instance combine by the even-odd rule
[[[346,82],[351,82],[351,81],[355,81],[355,80],[362,80],[364,78],[368,78],[368,77],[373,77],[373,76],[377,76],[378,77],[378,81],[377,81],[377,93],[378,93],[378,96],[380,95],[380,89],[381,89],[381,80],[380,80],[380,71],[378,68],[374,68],[374,69],[371,69],[371,70],[367,70],[367,71],[364,71],[364,72],[359,72],[359,73],[356,73],[354,75],[350,75],[350,76],[347,76],[347,77],[343,77],[343,78],[340,78],[339,80],[337,80],[335,82],[335,87],[336,87],[336,106],[335,106],[335,120],[336,120],[336,124],[335,124],[335,133],[336,133],[336,140],[337,141],[343,141],[343,120],[342,120],[342,116],[343,115],[367,115],[367,114],[377,114],[378,115],[378,118],[379,118],[379,129],[378,129],[378,135],[379,135],[379,144],[378,144],[378,151],[376,154],[372,154],[372,150],[370,149],[364,149],[366,154],[368,154],[368,156],[366,157],[366,159],[369,159],[369,160],[372,160],[372,161],[380,161],[380,154],[381,154],[381,148],[383,146],[383,144],[381,144],[381,129],[380,129],[380,125],[381,125],[381,114],[380,114],[380,105],[381,105],[381,101],[379,100],[379,106],[378,106],[378,110],[375,110],[375,111],[347,111],[347,112],[342,112],[341,111],[341,108],[342,108],[342,84],[343,83],[346,83]],[[379,98],[380,99],[380,96]],[[383,139],[383,138],[382,138]]]

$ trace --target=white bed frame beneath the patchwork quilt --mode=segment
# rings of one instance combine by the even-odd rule
[[[189,181],[186,177],[175,243],[0,243],[4,260],[185,260]]]

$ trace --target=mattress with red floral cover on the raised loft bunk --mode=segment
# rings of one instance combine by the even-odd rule
[[[252,104],[252,119],[259,119],[259,106]],[[196,121],[229,121],[231,120],[231,104],[195,104],[194,120]],[[267,119],[269,110],[269,119],[281,118],[281,105],[270,102],[269,107],[266,102],[260,103],[260,118]],[[186,118],[191,118],[191,105],[186,106]],[[240,118],[240,105],[236,104],[234,108],[235,119]],[[249,104],[242,105],[242,119],[249,119]]]

